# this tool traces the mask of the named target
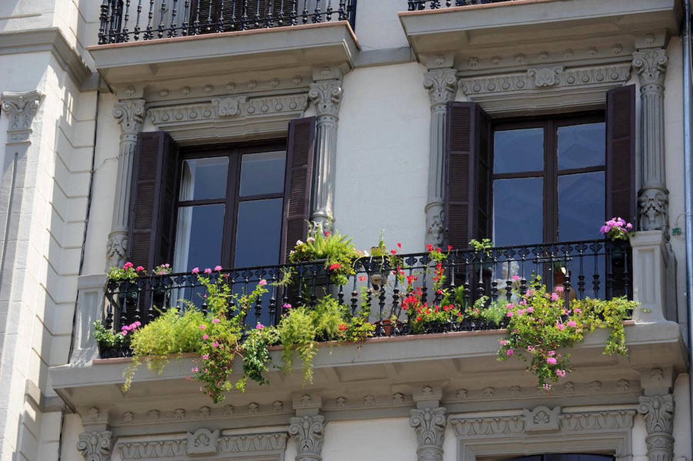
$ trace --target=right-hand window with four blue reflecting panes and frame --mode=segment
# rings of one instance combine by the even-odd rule
[[[493,125],[493,239],[498,246],[599,239],[605,213],[602,115]]]

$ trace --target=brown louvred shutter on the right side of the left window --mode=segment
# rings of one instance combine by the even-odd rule
[[[315,117],[299,118],[289,123],[284,210],[281,228],[281,262],[288,261],[289,251],[298,239],[308,233],[310,192],[313,188]]]

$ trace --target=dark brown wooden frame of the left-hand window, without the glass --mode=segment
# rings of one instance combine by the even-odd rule
[[[236,230],[238,228],[238,204],[243,201],[253,201],[262,199],[283,199],[284,197],[284,183],[281,184],[281,192],[274,192],[271,194],[259,194],[259,195],[240,195],[240,172],[241,165],[243,161],[243,155],[245,154],[261,154],[263,152],[287,152],[287,140],[286,138],[272,139],[269,141],[254,141],[247,143],[229,144],[229,145],[215,145],[215,146],[193,146],[193,147],[181,147],[178,166],[179,174],[176,183],[176,201],[175,201],[175,232],[177,233],[178,226],[178,210],[182,206],[196,206],[196,205],[225,205],[224,209],[224,226],[222,230],[222,254],[220,257],[220,264],[226,268],[233,268],[234,261],[236,259]],[[288,153],[287,153],[288,156]],[[227,188],[226,197],[219,199],[199,199],[199,200],[180,200],[180,187],[182,183],[182,168],[180,166],[186,160],[191,159],[209,159],[209,158],[220,158],[227,157],[228,159],[228,171],[227,171]],[[285,175],[288,165],[285,166]],[[282,207],[283,208],[283,207]],[[173,235],[173,241],[175,242],[175,234]],[[280,236],[281,239],[281,236]],[[281,241],[280,247],[281,247]],[[175,248],[174,248],[175,251]],[[281,258],[281,255],[279,255]]]

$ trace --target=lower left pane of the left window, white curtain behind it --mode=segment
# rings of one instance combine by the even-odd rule
[[[178,208],[173,269],[188,272],[221,264],[224,233],[224,208],[218,205],[182,206]]]

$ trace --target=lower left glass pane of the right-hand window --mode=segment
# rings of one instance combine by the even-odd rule
[[[493,181],[493,242],[496,246],[543,242],[543,179]]]

